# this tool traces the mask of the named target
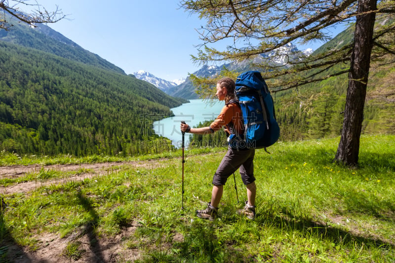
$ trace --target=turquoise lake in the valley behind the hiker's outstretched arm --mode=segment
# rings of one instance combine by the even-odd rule
[[[182,147],[182,133],[180,131],[181,121],[185,121],[191,127],[206,120],[214,120],[224,107],[224,101],[216,101],[214,104],[208,104],[206,100],[190,100],[190,103],[171,109],[173,117],[161,119],[154,122],[154,131],[156,134],[171,140],[172,144]],[[185,134],[185,147],[189,144],[189,135]]]

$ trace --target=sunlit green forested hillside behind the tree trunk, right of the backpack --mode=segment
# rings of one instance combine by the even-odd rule
[[[387,21],[387,23],[390,21]],[[383,23],[380,19],[377,25]],[[353,41],[354,26],[327,42],[315,52],[324,52]],[[373,56],[375,57],[375,56]],[[372,59],[364,107],[362,134],[395,133],[395,55],[388,53]],[[349,64],[341,65],[348,69]],[[334,69],[332,69],[333,71]],[[313,71],[308,72],[311,75]],[[329,75],[324,71],[320,75]],[[338,136],[341,133],[348,75],[273,94],[276,116],[283,140]]]

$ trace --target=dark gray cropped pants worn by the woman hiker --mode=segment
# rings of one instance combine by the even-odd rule
[[[225,185],[228,177],[240,168],[239,172],[244,185],[255,181],[254,177],[255,149],[236,150],[231,147],[225,154],[213,177],[214,186]]]

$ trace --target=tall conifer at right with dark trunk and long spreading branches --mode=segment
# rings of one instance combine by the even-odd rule
[[[288,53],[290,67],[272,67],[268,62],[254,65],[261,70],[273,92],[349,74],[343,129],[335,160],[353,166],[358,162],[370,59],[382,56],[383,50],[395,53],[395,39],[389,37],[395,32],[394,25],[373,30],[376,14],[390,17],[395,13],[395,2],[380,1],[378,7],[376,3],[377,0],[182,0],[181,6],[206,21],[206,25],[198,29],[203,43],[194,60],[200,63],[252,60],[289,43],[326,40],[329,27],[355,21],[354,41],[350,43],[322,50],[302,61],[291,60],[301,57],[300,53]],[[227,38],[232,39],[233,44],[225,51],[212,47],[212,43]],[[380,52],[371,56],[373,45]],[[350,67],[336,67],[343,63]],[[335,70],[329,72],[329,69]],[[223,75],[236,76],[224,71],[219,77]],[[199,85],[201,96],[209,96],[210,86],[216,80],[191,78]]]

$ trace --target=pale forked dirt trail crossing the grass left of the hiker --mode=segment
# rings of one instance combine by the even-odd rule
[[[0,167],[0,179],[4,178],[18,178],[22,177],[28,173],[39,173],[41,169],[45,171],[60,171],[60,172],[70,172],[70,171],[81,171],[74,176],[67,178],[56,178],[48,180],[38,180],[29,181],[24,183],[19,183],[16,185],[10,185],[7,187],[0,186],[0,193],[12,194],[12,193],[28,193],[36,188],[42,186],[58,185],[70,181],[81,181],[85,178],[92,178],[95,176],[102,176],[109,174],[113,171],[120,169],[121,166],[131,166],[131,167],[158,167],[166,159],[160,160],[148,160],[148,161],[130,161],[130,162],[104,162],[104,163],[82,163],[82,164],[55,164],[55,165],[12,165],[12,166],[1,166]]]

